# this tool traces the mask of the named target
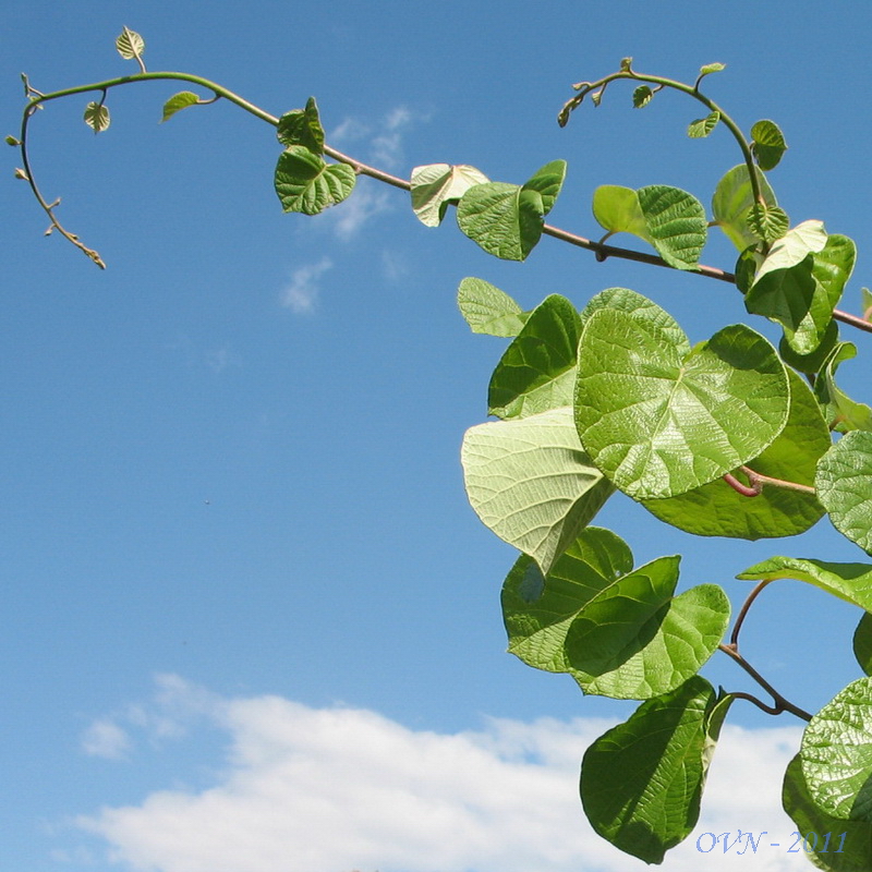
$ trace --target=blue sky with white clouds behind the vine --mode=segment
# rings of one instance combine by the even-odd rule
[[[872,283],[868,4],[2,8],[3,135],[19,129],[22,71],[40,90],[134,72],[113,46],[128,25],[149,70],[204,75],[274,114],[315,95],[331,145],[407,178],[445,161],[523,182],[565,158],[548,220],[592,237],[598,184],[671,184],[707,204],[739,155],[723,130],[686,137],[697,106],[659,95],[632,110],[620,83],[559,130],[571,83],[625,56],[685,81],[725,62],[712,97],[744,130],[785,131],[771,178],[792,222],[821,218],[860,245],[843,307]],[[451,214],[425,228],[405,194],[365,179],[324,216],[284,216],[272,129],[221,102],[158,126],[181,89],[111,93],[97,137],[90,96],[34,120],[43,190],[105,272],[43,237],[7,152],[0,870],[643,868],[591,833],[577,792],[584,748],[634,704],[582,699],[505,653],[514,554],[469,508],[459,464],[505,342],[473,336],[455,295],[476,276],[524,308],[552,292],[581,306],[620,284],[695,342],[746,317],[738,294],[552,239],[501,263]],[[713,238],[703,261],[729,269],[735,253]],[[869,340],[846,338],[860,359],[839,375],[862,395]],[[597,523],[638,564],[683,554],[682,589],[716,582],[734,603],[748,591],[734,576],[775,554],[863,560],[826,520],[802,542],[693,540],[617,497]],[[780,582],[743,653],[815,711],[859,676],[858,617]],[[723,656],[704,674],[753,690]],[[807,868],[778,808],[800,735],[787,717],[734,705],[700,826],[664,870]],[[700,834],[739,828],[782,847],[697,852]]]

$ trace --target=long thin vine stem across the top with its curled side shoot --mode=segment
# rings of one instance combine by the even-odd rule
[[[741,131],[739,131],[738,126],[735,125],[729,116],[723,113],[723,110],[719,107],[716,107],[714,102],[708,100],[708,98],[704,97],[703,95],[699,94],[694,88],[691,88],[689,85],[685,85],[680,82],[673,82],[671,80],[661,78],[657,76],[640,76],[640,74],[635,72],[623,72],[623,73],[616,73],[611,76],[607,76],[608,81],[613,78],[639,78],[640,81],[650,81],[661,83],[658,87],[677,87],[679,90],[685,90],[690,93],[692,96],[695,96],[697,99],[702,100],[705,102],[706,106],[711,105],[713,107],[713,111],[722,112],[724,123],[734,132],[734,135],[740,140],[740,147],[743,146],[743,154],[747,154],[747,157],[751,159],[750,149],[748,148],[744,138],[741,135]],[[130,85],[136,82],[158,82],[158,81],[177,81],[177,82],[187,82],[192,85],[197,85],[199,87],[206,88],[210,90],[215,96],[210,100],[203,100],[202,102],[214,102],[218,99],[226,99],[229,102],[238,106],[240,109],[249,112],[250,114],[254,116],[255,118],[259,119],[261,121],[265,121],[268,124],[271,124],[274,128],[278,126],[279,119],[278,117],[267,112],[266,110],[262,109],[255,104],[240,97],[234,92],[230,90],[229,88],[219,85],[217,82],[211,82],[208,78],[204,78],[199,75],[194,75],[192,73],[180,73],[174,71],[162,71],[162,72],[140,72],[133,75],[125,75],[119,76],[117,78],[108,78],[104,82],[95,82],[87,85],[77,85],[71,88],[63,88],[61,90],[55,90],[49,94],[43,94],[41,92],[36,90],[36,88],[32,87],[27,77],[22,75],[22,78],[25,83],[25,88],[27,96],[29,97],[27,105],[24,108],[24,114],[22,118],[22,126],[21,126],[21,136],[20,136],[20,147],[22,153],[22,161],[24,164],[24,170],[27,183],[31,186],[31,190],[34,193],[39,205],[46,211],[51,221],[51,229],[57,229],[64,238],[66,238],[70,242],[73,243],[77,249],[83,251],[94,263],[97,264],[100,268],[105,269],[106,264],[100,258],[99,254],[93,249],[88,249],[85,246],[78,237],[75,233],[71,233],[66,229],[64,229],[61,223],[58,221],[55,215],[55,207],[60,203],[60,201],[55,201],[53,203],[49,203],[39,191],[39,187],[35,181],[33,169],[31,167],[31,160],[27,154],[27,129],[28,123],[33,114],[36,112],[38,108],[41,108],[43,104],[50,102],[51,100],[61,99],[63,97],[71,97],[76,94],[86,94],[93,90],[99,92],[107,92],[111,88],[120,87],[122,85]],[[601,80],[605,81],[605,80]],[[607,82],[606,82],[607,84]],[[730,126],[731,125],[731,126]],[[392,175],[389,172],[385,172],[384,170],[378,169],[377,167],[372,167],[363,161],[358,160],[356,158],[351,157],[350,155],[346,155],[342,152],[339,152],[336,148],[332,148],[329,145],[324,146],[324,154],[328,157],[332,158],[334,160],[339,161],[340,164],[347,164],[350,166],[355,173],[360,175],[368,175],[372,179],[376,179],[379,182],[384,182],[385,184],[389,184],[393,187],[398,187],[402,191],[411,191],[412,185],[407,179],[401,179],[398,175]],[[751,159],[751,166],[753,166],[753,160]],[[756,173],[751,173],[752,184],[756,183]],[[50,232],[50,231],[49,231]],[[554,239],[558,239],[561,242],[567,242],[570,245],[574,245],[580,249],[585,249],[586,251],[592,252],[596,259],[600,262],[604,262],[609,257],[617,257],[623,261],[634,261],[637,263],[642,264],[650,264],[652,266],[659,266],[666,267],[667,269],[675,269],[675,267],[667,264],[662,257],[658,257],[654,254],[647,254],[645,252],[638,252],[632,249],[622,249],[617,245],[606,245],[603,242],[596,242],[594,240],[588,239],[586,237],[578,235],[577,233],[570,233],[567,230],[562,230],[558,227],[554,227],[552,225],[544,225],[542,232],[545,235],[553,237]],[[726,281],[729,284],[736,283],[736,277],[732,272],[728,272],[724,269],[718,269],[717,267],[705,266],[704,264],[698,264],[692,270],[687,270],[690,272],[694,272],[700,276],[704,276],[706,278],[715,279],[718,281]],[[841,312],[839,310],[834,310],[833,317],[837,320],[841,320],[845,324],[849,324],[853,327],[857,327],[860,330],[864,330],[867,332],[872,332],[872,323],[864,320],[863,318],[851,315],[847,312]]]

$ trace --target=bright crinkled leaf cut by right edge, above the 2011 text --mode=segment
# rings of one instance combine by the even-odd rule
[[[851,682],[812,717],[799,758],[821,811],[872,823],[872,679]]]

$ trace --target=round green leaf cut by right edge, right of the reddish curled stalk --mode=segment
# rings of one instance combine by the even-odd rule
[[[845,434],[821,458],[816,487],[833,526],[872,554],[872,433]]]

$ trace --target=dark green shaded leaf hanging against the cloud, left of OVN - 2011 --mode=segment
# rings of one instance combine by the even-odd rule
[[[691,833],[729,699],[718,701],[697,676],[640,705],[588,749],[581,802],[601,836],[659,863]]]

